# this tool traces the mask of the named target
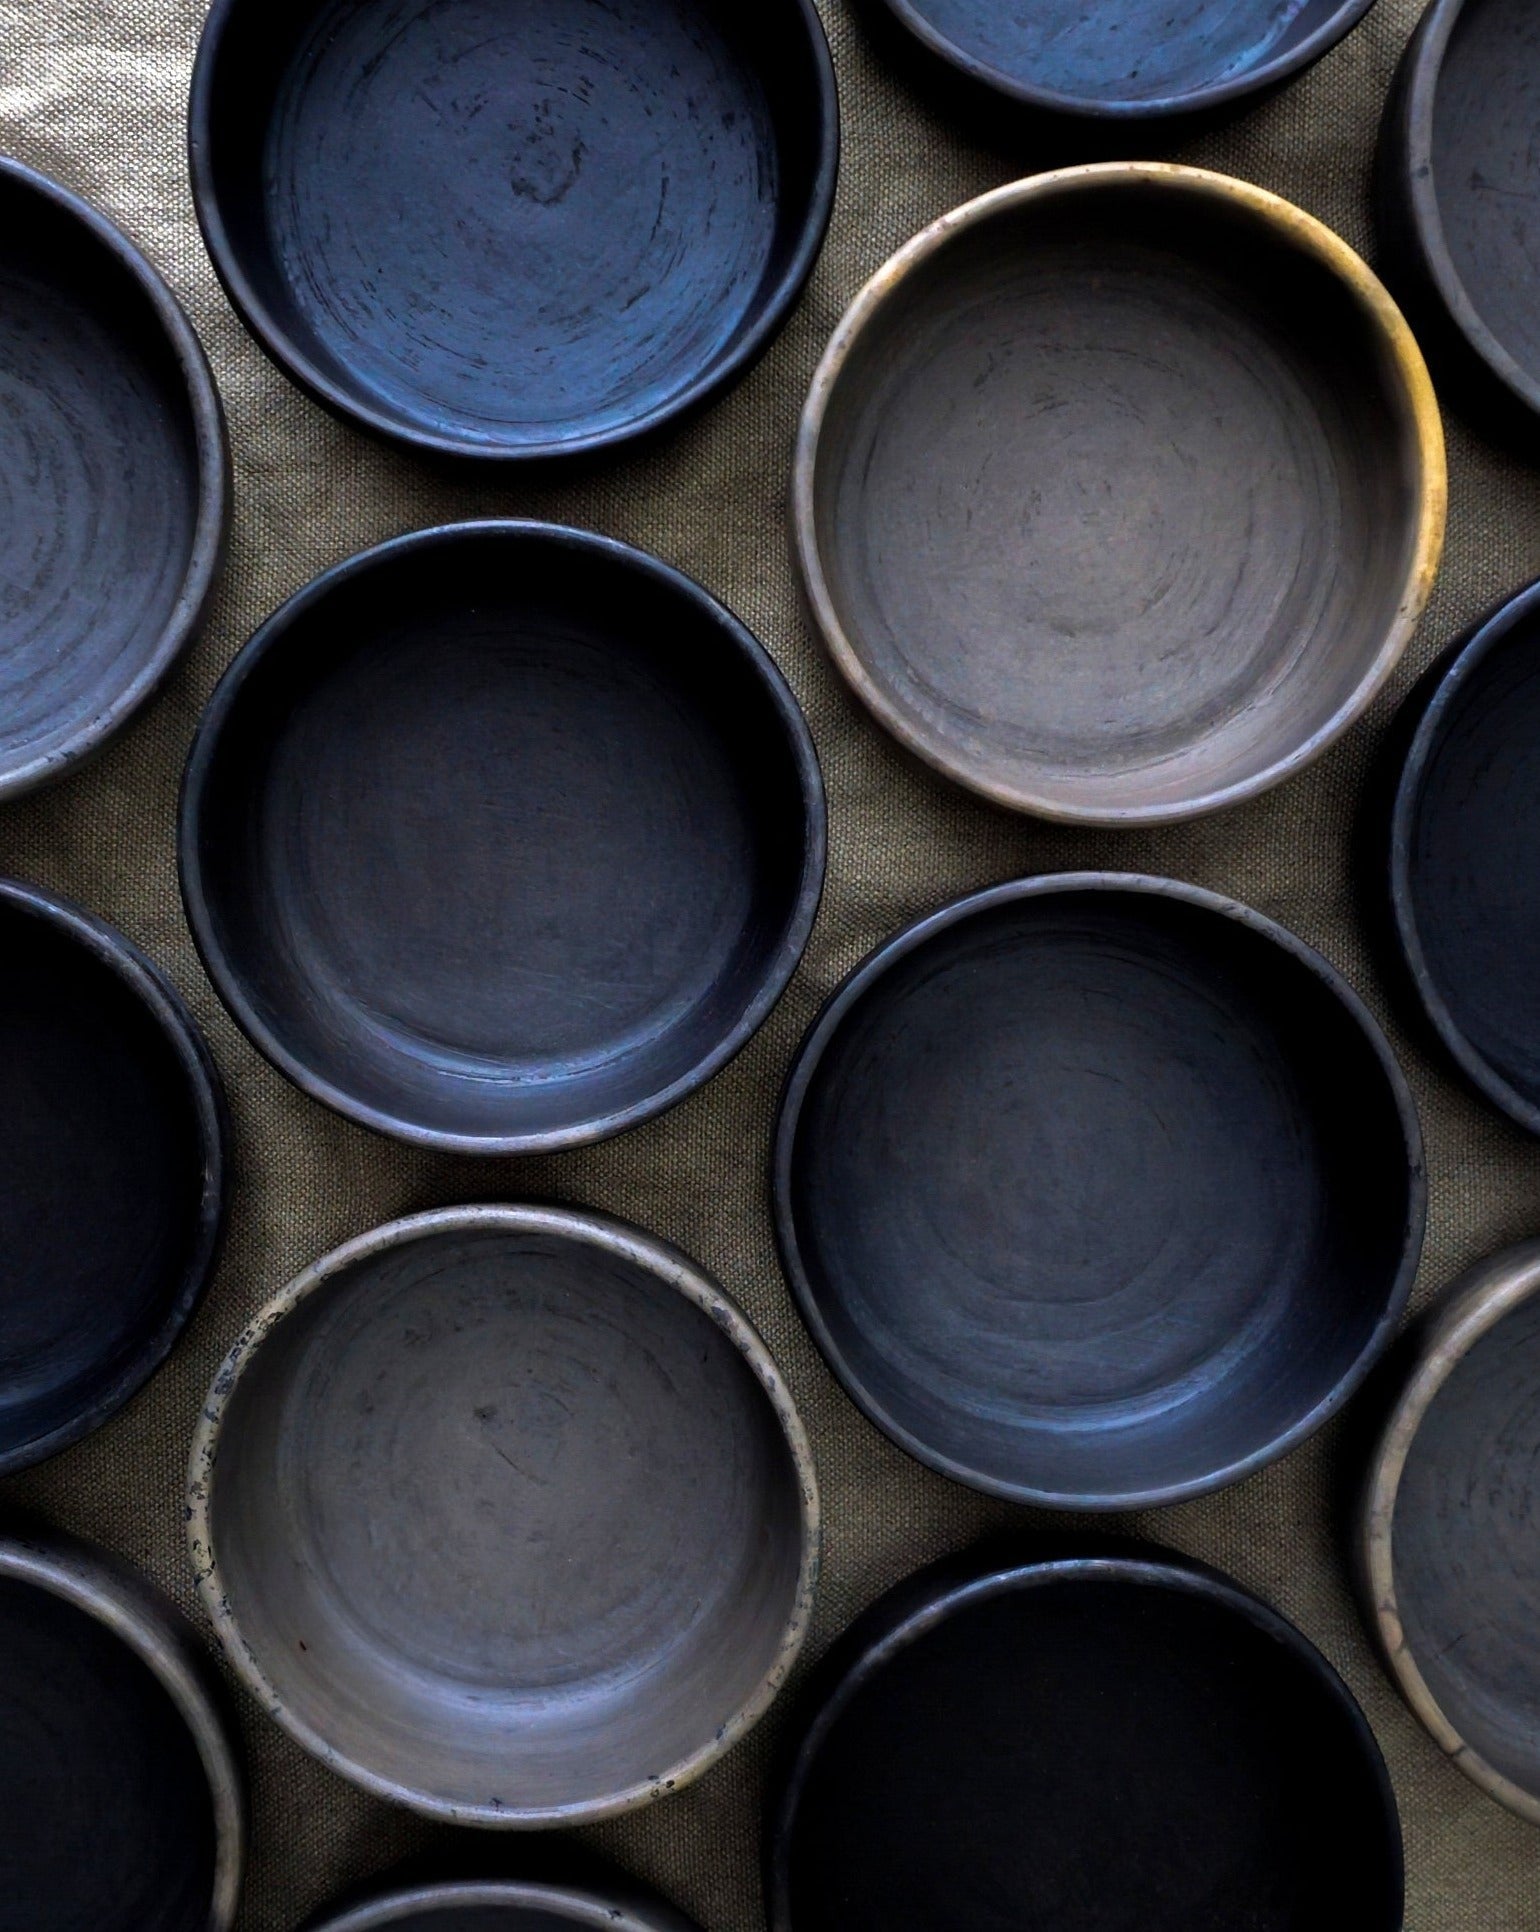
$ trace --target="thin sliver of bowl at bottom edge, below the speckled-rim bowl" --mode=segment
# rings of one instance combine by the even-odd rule
[[[319,1918],[309,1932],[696,1932],[661,1899],[630,1888],[603,1891],[528,1880],[408,1886],[352,1911]]]

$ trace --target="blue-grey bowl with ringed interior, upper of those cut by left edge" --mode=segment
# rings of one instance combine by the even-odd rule
[[[153,696],[224,545],[224,419],[133,243],[0,156],[0,798]]]

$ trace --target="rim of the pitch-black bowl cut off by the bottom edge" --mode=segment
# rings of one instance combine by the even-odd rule
[[[788,1847],[808,1776],[829,1731],[854,1696],[879,1679],[887,1665],[916,1640],[958,1611],[993,1598],[1063,1582],[1103,1582],[1123,1588],[1169,1590],[1229,1611],[1271,1638],[1343,1712],[1372,1772],[1385,1822],[1391,1882],[1405,1888],[1405,1845],[1395,1785],[1358,1698],[1329,1658],[1283,1611],[1273,1609],[1233,1577],[1198,1559],[1142,1540],[1092,1540],[1082,1548],[1049,1546],[1034,1555],[995,1555],[991,1548],[964,1549],[906,1577],[879,1596],[837,1640],[817,1667],[808,1704],[794,1718],[792,1743],[765,1808],[765,1909],[769,1932],[794,1932],[788,1901]]]

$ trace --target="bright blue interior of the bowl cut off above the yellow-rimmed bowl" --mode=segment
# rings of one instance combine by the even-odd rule
[[[1206,95],[1287,60],[1355,10],[1343,0],[904,0],[964,62],[1016,87],[1096,108]]]

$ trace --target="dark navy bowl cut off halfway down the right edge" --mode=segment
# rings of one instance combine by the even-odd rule
[[[1461,1070],[1540,1134],[1540,585],[1461,639],[1411,705],[1393,937]]]

